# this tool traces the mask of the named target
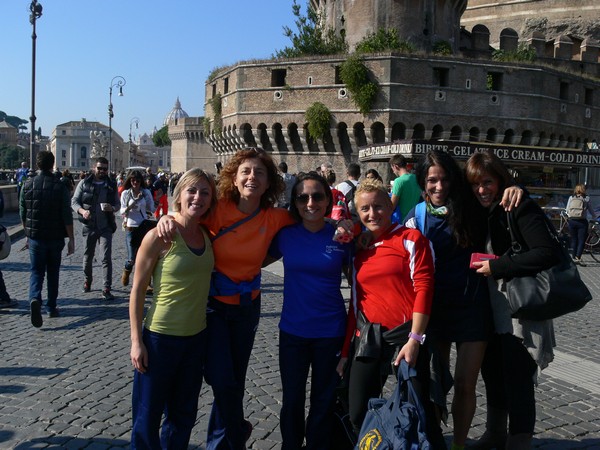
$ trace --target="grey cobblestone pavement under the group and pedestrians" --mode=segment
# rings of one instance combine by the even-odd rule
[[[118,449],[129,446],[132,368],[129,361],[128,288],[120,286],[124,234],[113,244],[114,301],[100,298],[101,267],[94,264],[92,292],[82,293],[82,239],[76,224],[75,255],[64,258],[58,305],[61,317],[29,321],[29,257],[19,251],[18,219],[1,223],[13,233],[13,251],[0,268],[15,309],[0,310],[0,448]],[[11,228],[10,225],[15,225]],[[587,257],[589,259],[589,256]],[[556,320],[556,360],[540,378],[534,448],[600,449],[600,265],[588,261],[581,274],[596,299],[577,313]],[[347,293],[347,290],[346,290]],[[277,323],[281,310],[281,265],[263,274],[263,311],[250,361],[246,413],[254,425],[253,449],[280,448],[281,389]],[[485,397],[470,437],[482,432]],[[191,448],[204,448],[211,393],[202,389]],[[445,428],[448,442],[451,419]]]

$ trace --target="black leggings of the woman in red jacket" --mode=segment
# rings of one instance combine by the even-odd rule
[[[433,449],[446,450],[442,430],[435,415],[433,403],[429,401],[429,358],[425,347],[421,347],[417,358],[417,376],[412,379],[413,386],[425,409],[427,439]],[[380,397],[391,367],[395,346],[386,344],[380,359],[354,359],[350,366],[349,403],[350,422],[358,436],[360,427],[368,409],[369,399]],[[382,374],[385,372],[385,374]],[[395,375],[394,375],[395,376]]]

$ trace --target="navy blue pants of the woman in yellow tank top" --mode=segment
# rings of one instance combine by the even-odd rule
[[[188,448],[202,388],[206,335],[206,330],[180,337],[144,329],[148,371],[136,370],[133,376],[132,449]]]

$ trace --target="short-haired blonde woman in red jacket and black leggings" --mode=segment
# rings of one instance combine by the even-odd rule
[[[433,298],[433,256],[429,241],[414,229],[392,223],[392,202],[381,183],[363,181],[354,196],[362,224],[371,232],[371,245],[354,260],[353,307],[348,314],[346,343],[338,372],[346,363],[350,341],[355,348],[365,326],[381,330],[381,348],[374,354],[356,351],[350,365],[350,420],[358,433],[368,401],[381,395],[400,360],[417,368],[413,384],[427,415],[427,437],[434,449],[445,449],[444,439],[429,400],[428,351],[425,330]],[[369,325],[372,324],[372,325]],[[379,325],[379,326],[378,326]]]

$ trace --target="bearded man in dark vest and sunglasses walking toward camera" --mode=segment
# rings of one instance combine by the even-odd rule
[[[83,292],[90,292],[92,286],[92,262],[96,243],[100,242],[102,253],[102,276],[104,286],[102,298],[113,300],[112,286],[112,234],[117,229],[115,211],[120,209],[117,183],[108,176],[108,160],[96,159],[94,171],[81,180],[71,199],[73,211],[79,214],[83,223],[85,251],[83,253]]]

